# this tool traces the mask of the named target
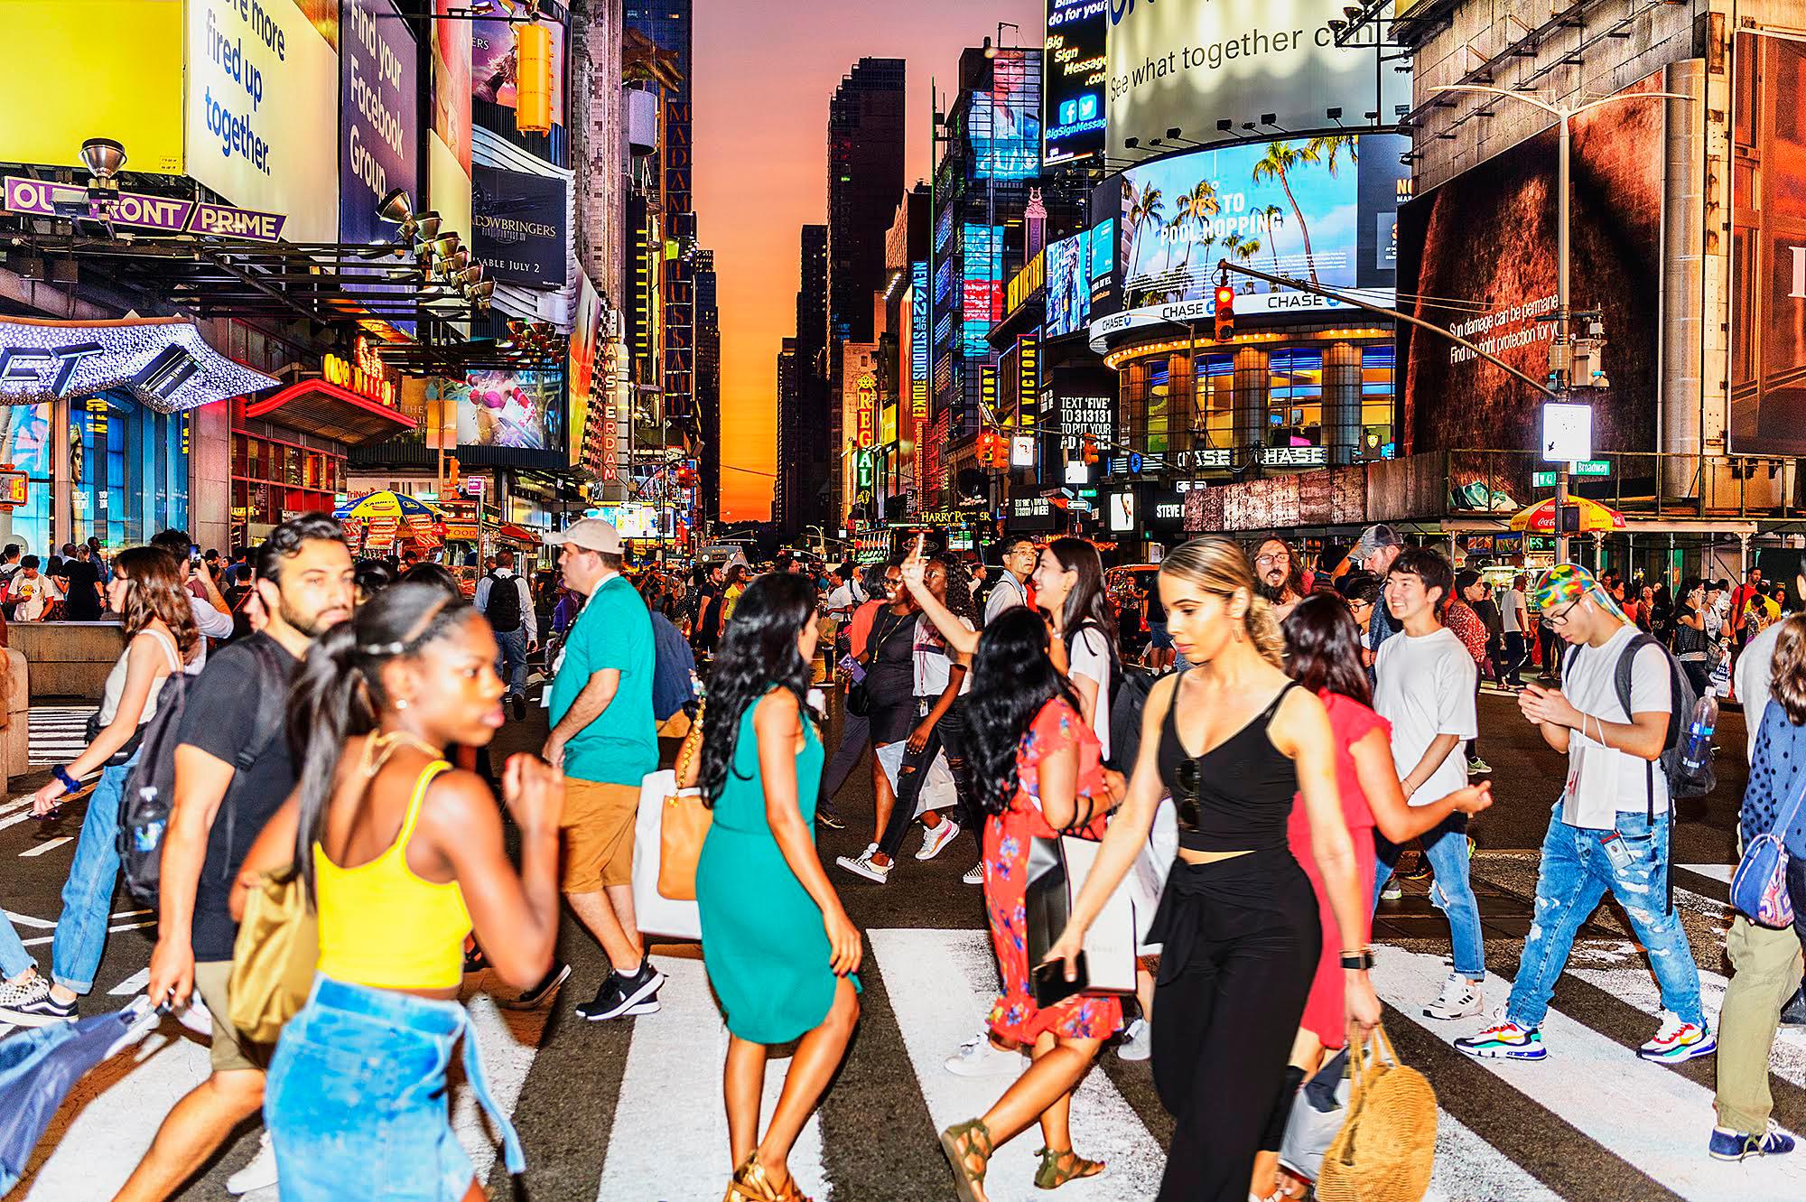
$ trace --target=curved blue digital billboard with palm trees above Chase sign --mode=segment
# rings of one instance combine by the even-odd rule
[[[1203,300],[1217,262],[1331,289],[1394,285],[1398,153],[1405,139],[1326,135],[1223,146],[1123,171],[1123,307]],[[1250,309],[1327,309],[1277,283],[1235,280]]]

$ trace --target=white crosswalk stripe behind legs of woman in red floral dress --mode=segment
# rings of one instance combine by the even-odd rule
[[[990,937],[934,929],[867,931],[867,937],[885,969],[890,1009],[936,1128],[979,1117],[1008,1079],[955,1077],[941,1061],[972,1038],[997,996]],[[1037,1135],[1024,1132],[997,1150],[984,1179],[988,1197],[997,1202],[1044,1197],[1033,1188]],[[1073,1096],[1073,1142],[1080,1155],[1107,1160],[1109,1168],[1100,1177],[1071,1182],[1062,1193],[1127,1202],[1150,1198],[1159,1189],[1167,1153],[1102,1072],[1087,1074]]]

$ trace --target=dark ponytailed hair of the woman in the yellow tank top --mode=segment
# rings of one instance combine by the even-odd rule
[[[383,664],[419,655],[473,612],[462,596],[446,596],[435,585],[390,585],[314,639],[289,693],[289,754],[300,765],[302,798],[291,872],[300,872],[309,899],[314,843],[325,830],[345,740],[374,731],[390,704]]]

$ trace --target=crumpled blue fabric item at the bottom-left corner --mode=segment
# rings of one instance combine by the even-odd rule
[[[96,1065],[157,1025],[148,1002],[0,1040],[0,1195],[25,1175],[31,1153],[69,1090]]]

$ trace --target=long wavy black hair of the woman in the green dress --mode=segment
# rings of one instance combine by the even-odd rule
[[[715,805],[728,787],[746,707],[769,693],[773,684],[789,689],[798,707],[807,704],[809,664],[796,650],[796,635],[809,624],[811,614],[815,581],[800,572],[766,572],[746,587],[733,606],[708,673],[708,709],[703,715],[697,783],[708,805]]]

